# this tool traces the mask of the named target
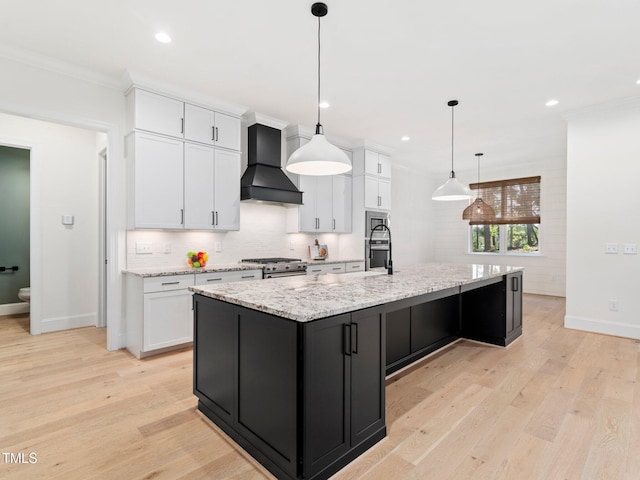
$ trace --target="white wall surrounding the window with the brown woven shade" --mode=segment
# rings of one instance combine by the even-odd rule
[[[461,181],[473,182],[477,171],[456,172]],[[469,253],[469,223],[462,220],[466,202],[435,204],[435,261],[514,265],[525,268],[524,291],[542,295],[565,295],[566,261],[566,161],[553,158],[532,164],[499,169],[483,167],[481,181],[540,175],[540,255],[498,255]],[[432,190],[446,179],[438,179]],[[430,195],[430,193],[429,193]]]

